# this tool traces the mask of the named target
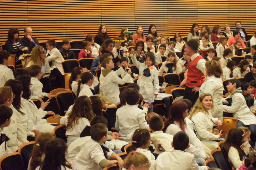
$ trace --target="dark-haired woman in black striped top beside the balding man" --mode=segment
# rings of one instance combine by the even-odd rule
[[[24,47],[22,41],[19,39],[19,30],[17,28],[11,28],[8,31],[8,40],[5,42],[4,49],[10,54],[16,54],[15,65],[21,64],[19,56],[22,55],[23,51],[28,51],[27,47]]]

